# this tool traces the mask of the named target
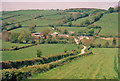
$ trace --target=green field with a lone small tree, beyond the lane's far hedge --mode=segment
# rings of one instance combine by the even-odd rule
[[[74,47],[76,46],[73,44],[40,44],[16,51],[3,51],[2,60],[7,61],[34,58],[36,57],[38,48],[41,49],[42,56],[48,56],[64,53],[65,48],[70,52]]]

